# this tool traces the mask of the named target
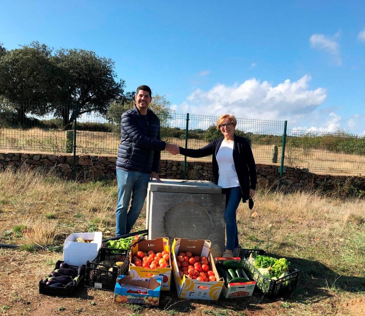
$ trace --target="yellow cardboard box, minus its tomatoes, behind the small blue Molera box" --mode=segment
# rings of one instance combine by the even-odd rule
[[[169,291],[171,282],[171,262],[165,268],[157,268],[154,270],[146,269],[143,267],[136,267],[132,263],[133,256],[137,255],[138,251],[149,252],[153,250],[155,254],[162,251],[167,251],[170,253],[169,239],[168,238],[156,238],[152,240],[142,240],[132,241],[131,251],[129,253],[129,275],[133,279],[147,280],[155,275],[160,275],[162,277],[161,290]],[[171,259],[170,259],[171,260]]]

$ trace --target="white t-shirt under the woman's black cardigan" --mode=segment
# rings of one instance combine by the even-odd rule
[[[233,141],[222,141],[215,157],[218,163],[218,185],[221,188],[239,187],[236,168],[233,161]]]

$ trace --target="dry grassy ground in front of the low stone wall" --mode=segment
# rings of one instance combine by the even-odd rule
[[[365,200],[318,193],[257,191],[251,217],[238,209],[239,241],[286,257],[300,270],[297,290],[279,299],[259,293],[235,300],[179,300],[162,293],[158,307],[118,305],[112,293],[80,289],[73,298],[38,294],[62,253],[34,245],[62,244],[71,232],[114,236],[115,182],[78,183],[53,175],[0,174],[0,309],[3,315],[365,315]],[[145,228],[145,209],[136,231]]]

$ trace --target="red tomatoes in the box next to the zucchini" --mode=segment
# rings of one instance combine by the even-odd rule
[[[180,252],[176,257],[180,278],[184,274],[190,279],[198,281],[216,281],[215,274],[209,269],[207,257],[193,256],[190,251]]]

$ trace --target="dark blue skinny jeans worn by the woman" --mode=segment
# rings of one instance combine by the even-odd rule
[[[222,188],[222,194],[226,194],[226,210],[224,221],[226,221],[227,244],[226,249],[234,250],[238,247],[238,229],[236,211],[242,199],[240,187]]]

